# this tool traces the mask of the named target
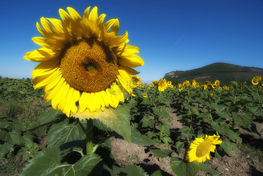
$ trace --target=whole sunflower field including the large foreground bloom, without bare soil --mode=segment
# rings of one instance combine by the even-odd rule
[[[260,76],[224,86],[220,80],[143,84],[133,69],[144,65],[135,54],[140,49],[127,44],[127,31],[117,35],[118,19],[104,22],[97,7],[83,17],[67,10],[59,9],[61,20],[37,22],[43,37],[32,40],[41,47],[24,56],[39,62],[31,81],[1,78],[1,174],[217,175],[221,171],[208,167],[208,160],[238,154],[242,131],[261,137],[255,123],[262,120]],[[158,162],[169,158],[169,170],[144,169],[146,155],[146,164],[118,163],[115,139],[147,147]],[[18,158],[23,167],[10,169]]]

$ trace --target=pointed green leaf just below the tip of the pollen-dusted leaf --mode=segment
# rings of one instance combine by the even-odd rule
[[[149,146],[149,145],[161,145],[161,142],[149,139],[142,135],[139,131],[131,128],[131,142],[138,145]]]

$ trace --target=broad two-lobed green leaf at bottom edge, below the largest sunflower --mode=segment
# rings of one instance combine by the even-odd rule
[[[60,149],[50,147],[39,152],[29,160],[21,176],[72,176],[72,175],[102,175],[102,162],[98,155],[84,155],[75,164],[60,162]]]

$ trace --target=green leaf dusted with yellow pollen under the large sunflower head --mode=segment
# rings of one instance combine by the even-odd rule
[[[105,108],[104,111],[89,112],[85,110],[83,113],[77,112],[76,114],[71,114],[75,118],[97,118],[104,125],[110,129],[116,131],[119,135],[124,137],[125,140],[131,143],[131,126],[130,126],[130,110],[129,104],[125,105],[119,103],[117,109]]]

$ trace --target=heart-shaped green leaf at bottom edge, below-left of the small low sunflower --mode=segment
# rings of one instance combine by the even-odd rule
[[[177,176],[195,176],[200,170],[200,163],[197,161],[185,163],[182,159],[177,157],[171,158],[170,166]]]

